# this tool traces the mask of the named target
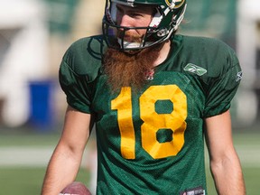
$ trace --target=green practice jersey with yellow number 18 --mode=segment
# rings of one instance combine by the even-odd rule
[[[230,107],[242,76],[235,52],[215,39],[175,35],[144,88],[112,93],[106,49],[102,36],[81,39],[60,65],[68,104],[95,116],[97,193],[207,193],[203,119]]]

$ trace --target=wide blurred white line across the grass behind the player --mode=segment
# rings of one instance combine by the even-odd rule
[[[87,147],[88,148],[88,147]],[[260,168],[260,145],[237,145],[238,156],[242,166]],[[25,167],[46,167],[53,152],[53,147],[46,146],[9,146],[0,147],[0,167],[25,166]],[[82,163],[86,166],[89,150],[83,156]],[[91,155],[91,153],[90,153]],[[206,163],[209,163],[209,155],[206,153]]]

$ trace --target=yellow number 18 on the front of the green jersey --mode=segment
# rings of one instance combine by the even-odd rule
[[[139,99],[142,147],[153,159],[176,155],[184,144],[184,132],[187,118],[186,95],[176,85],[151,86]],[[158,100],[170,100],[172,113],[158,114],[155,103]],[[121,153],[125,159],[135,159],[135,129],[132,116],[131,88],[125,87],[117,98],[112,100],[111,108],[117,110],[118,126],[121,134]],[[160,143],[156,134],[160,129],[172,130],[172,141]]]

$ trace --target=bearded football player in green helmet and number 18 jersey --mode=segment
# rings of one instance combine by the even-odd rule
[[[246,194],[229,113],[242,71],[227,44],[176,33],[186,5],[107,0],[103,35],[70,46],[69,106],[43,195],[75,180],[93,124],[97,194],[207,194],[204,139],[218,194]]]

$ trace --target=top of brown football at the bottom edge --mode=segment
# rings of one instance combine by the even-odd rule
[[[91,195],[88,188],[79,181],[74,181],[60,191],[60,195]]]

